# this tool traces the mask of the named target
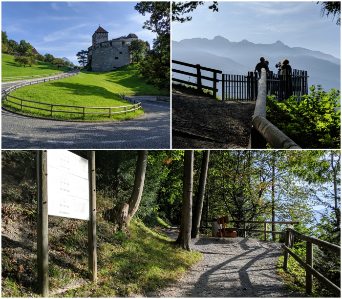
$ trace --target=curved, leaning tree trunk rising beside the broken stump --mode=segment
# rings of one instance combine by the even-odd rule
[[[147,151],[138,151],[137,168],[135,171],[132,195],[128,200],[128,221],[132,219],[138,210],[141,195],[143,194],[146,173]]]

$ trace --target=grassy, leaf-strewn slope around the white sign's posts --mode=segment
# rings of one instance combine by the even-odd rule
[[[25,169],[27,164],[20,161],[1,161],[1,295],[37,297],[34,168]],[[49,289],[53,297],[143,297],[145,292],[179,278],[201,259],[200,253],[179,249],[174,241],[138,219],[130,222],[125,233],[118,232],[117,225],[108,219],[109,201],[96,201],[97,283],[87,280],[87,221],[48,217]],[[161,219],[156,223],[167,225]]]

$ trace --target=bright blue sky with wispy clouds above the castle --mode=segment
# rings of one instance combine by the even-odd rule
[[[135,33],[139,39],[156,35],[143,29],[150,15],[142,16],[134,2],[1,2],[1,30],[8,40],[28,41],[39,54],[66,57],[76,65],[76,53],[92,45],[99,27],[108,31],[108,39]]]

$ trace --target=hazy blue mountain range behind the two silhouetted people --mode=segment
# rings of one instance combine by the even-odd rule
[[[276,63],[288,59],[292,69],[307,71],[309,86],[321,84],[325,91],[330,91],[331,88],[341,89],[341,60],[320,51],[291,48],[279,40],[272,44],[255,44],[248,40],[231,42],[221,36],[216,36],[213,40],[172,40],[172,60],[200,64],[221,70],[224,74],[247,75],[248,71],[254,70],[260,56],[270,61],[270,70],[275,73],[278,71]],[[178,64],[172,64],[172,68],[195,72],[195,69]],[[212,77],[212,73],[202,74]],[[173,73],[173,76],[189,80],[189,76],[186,75]],[[193,78],[191,81],[195,82]],[[205,83],[212,86],[210,81],[203,81],[203,84]]]

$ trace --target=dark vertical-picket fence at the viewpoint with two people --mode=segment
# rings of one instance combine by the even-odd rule
[[[307,71],[289,70],[286,76],[266,74],[266,94],[274,95],[276,100],[288,99],[296,95],[300,99],[308,94]],[[248,76],[222,74],[222,100],[255,100],[258,93],[257,74],[248,72]]]

